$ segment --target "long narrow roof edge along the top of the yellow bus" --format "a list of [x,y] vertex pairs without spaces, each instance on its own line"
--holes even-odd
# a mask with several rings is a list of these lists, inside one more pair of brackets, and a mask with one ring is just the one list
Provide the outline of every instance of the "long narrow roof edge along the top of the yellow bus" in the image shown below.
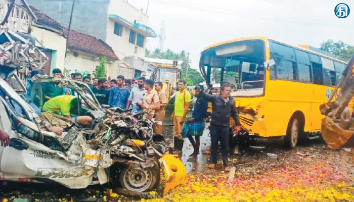
[[264,42],[267,42],[268,40],[277,41],[279,43],[283,43],[283,44],[288,45],[288,46],[296,47],[298,49],[302,49],[303,51],[306,51],[306,52],[309,52],[309,53],[313,53],[313,54],[317,54],[317,55],[320,55],[320,56],[325,57],[325,58],[330,57],[330,58],[332,58],[334,60],[337,60],[337,61],[340,61],[342,63],[348,63],[348,61],[344,61],[343,59],[340,59],[338,57],[333,57],[333,56],[330,55],[330,53],[325,54],[324,53],[325,51],[322,51],[322,50],[320,52],[320,51],[318,51],[319,50],[318,48],[313,48],[312,46],[309,46],[309,45],[290,45],[288,43],[285,43],[285,42],[282,42],[282,41],[279,41],[279,40],[275,40],[275,39],[272,39],[272,38],[268,38],[268,37],[265,37],[265,36],[241,37],[241,38],[235,38],[235,39],[232,39],[232,40],[227,40],[227,41],[215,43],[213,45],[210,45],[210,46],[204,48],[202,52],[205,52],[205,51],[207,51],[210,48],[213,48],[213,47],[216,47],[216,46],[220,46],[220,45],[225,45],[225,44],[228,44],[228,43],[234,43],[234,42],[238,42],[238,41],[247,41],[247,40],[257,40],[257,39],[258,40],[263,40]]

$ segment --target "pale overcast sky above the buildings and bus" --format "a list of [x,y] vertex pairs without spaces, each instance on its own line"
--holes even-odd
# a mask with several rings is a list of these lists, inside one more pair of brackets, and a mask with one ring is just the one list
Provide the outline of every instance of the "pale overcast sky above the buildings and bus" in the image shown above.
[[[128,0],[146,11],[148,0]],[[346,3],[345,19],[334,7]],[[150,0],[149,26],[160,32],[165,21],[164,50],[183,49],[198,68],[200,52],[213,43],[247,36],[267,36],[293,45],[319,47],[326,39],[354,45],[354,0]],[[149,38],[148,49],[158,47]]]

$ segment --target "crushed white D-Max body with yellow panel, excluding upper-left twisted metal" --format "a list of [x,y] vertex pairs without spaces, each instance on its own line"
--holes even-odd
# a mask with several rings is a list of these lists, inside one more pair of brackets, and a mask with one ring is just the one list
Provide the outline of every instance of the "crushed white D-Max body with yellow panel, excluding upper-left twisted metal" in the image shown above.
[[[45,75],[32,78],[31,100],[38,107],[42,106],[41,99],[38,99],[42,92],[38,86],[46,82],[60,83],[76,91],[87,107],[79,115],[91,116],[93,124],[91,128],[81,128],[65,122],[67,127],[61,136],[44,130],[43,122],[46,120],[40,120],[34,110],[1,79],[2,90],[21,106],[25,116],[13,112],[9,102],[2,98],[6,110],[0,111],[10,112],[9,125],[16,127],[7,128],[7,131],[12,131],[9,133],[12,146],[0,147],[0,179],[50,180],[69,188],[111,182],[113,186],[130,192],[144,192],[152,190],[160,182],[162,171],[166,180],[164,193],[188,182],[182,162],[164,154],[164,146],[152,141],[155,121],[149,118],[149,114],[105,111],[95,96],[91,98],[83,91],[93,95],[86,84]],[[2,121],[4,116],[2,114]],[[65,120],[58,115],[55,117],[56,120]]]

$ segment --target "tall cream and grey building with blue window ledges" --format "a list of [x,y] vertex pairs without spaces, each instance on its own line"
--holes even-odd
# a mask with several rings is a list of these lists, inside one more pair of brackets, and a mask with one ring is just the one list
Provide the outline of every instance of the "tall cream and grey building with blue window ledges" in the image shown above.
[[[72,1],[27,2],[46,11],[47,15],[62,26],[68,27]],[[120,61],[116,71],[109,76],[121,74],[132,78],[147,76],[148,69],[144,61],[146,42],[149,37],[157,37],[157,33],[148,24],[149,17],[146,13],[126,0],[83,0],[75,4],[71,28],[102,39],[113,49]]]

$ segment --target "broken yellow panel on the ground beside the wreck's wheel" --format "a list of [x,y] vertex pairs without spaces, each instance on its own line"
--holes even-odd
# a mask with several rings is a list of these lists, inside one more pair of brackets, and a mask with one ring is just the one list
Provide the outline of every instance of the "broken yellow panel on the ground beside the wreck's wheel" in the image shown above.
[[163,194],[169,190],[188,183],[189,176],[182,161],[177,158],[178,155],[165,154],[160,158],[163,175],[166,180]]

